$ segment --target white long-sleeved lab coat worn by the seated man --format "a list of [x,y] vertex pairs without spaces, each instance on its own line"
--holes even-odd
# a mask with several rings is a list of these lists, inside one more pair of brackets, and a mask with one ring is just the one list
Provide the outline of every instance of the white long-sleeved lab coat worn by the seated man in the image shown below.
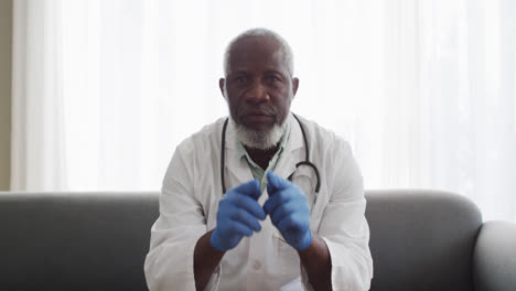
[[[160,216],[151,228],[144,272],[153,290],[195,290],[193,251],[197,239],[216,226],[221,184],[221,133],[225,118],[204,127],[175,150],[160,195]],[[315,198],[315,173],[310,166],[295,169],[304,161],[301,129],[290,115],[291,133],[275,173],[287,179],[293,173],[311,206],[310,228],[326,242],[332,260],[333,290],[368,290],[373,261],[369,229],[364,216],[363,179],[350,146],[313,121],[301,118],[308,137],[310,160],[321,175]],[[251,171],[239,159],[232,122],[226,132],[226,188],[252,180]],[[267,191],[259,198],[267,200]],[[311,289],[297,251],[278,238],[269,216],[262,229],[227,251],[213,273],[206,290],[279,290],[301,277]],[[289,284],[292,285],[292,284]],[[301,288],[301,287],[300,287]]]

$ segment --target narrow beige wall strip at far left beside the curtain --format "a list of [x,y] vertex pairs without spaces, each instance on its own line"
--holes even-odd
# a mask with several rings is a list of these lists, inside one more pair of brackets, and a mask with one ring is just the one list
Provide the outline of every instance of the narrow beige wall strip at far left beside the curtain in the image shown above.
[[11,176],[12,0],[0,0],[0,191]]

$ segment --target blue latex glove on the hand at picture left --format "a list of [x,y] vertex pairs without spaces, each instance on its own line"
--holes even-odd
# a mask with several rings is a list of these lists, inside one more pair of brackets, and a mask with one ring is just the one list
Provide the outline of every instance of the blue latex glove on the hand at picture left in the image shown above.
[[230,188],[218,203],[217,226],[209,237],[209,242],[219,251],[236,247],[244,236],[260,231],[258,219],[266,214],[258,204],[261,195],[258,180]]

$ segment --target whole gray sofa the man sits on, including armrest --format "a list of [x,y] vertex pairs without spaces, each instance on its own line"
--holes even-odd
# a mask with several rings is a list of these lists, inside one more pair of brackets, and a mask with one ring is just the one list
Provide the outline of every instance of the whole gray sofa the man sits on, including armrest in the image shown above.
[[[147,290],[159,193],[0,193],[0,290]],[[469,200],[369,191],[372,290],[516,290],[516,226]]]

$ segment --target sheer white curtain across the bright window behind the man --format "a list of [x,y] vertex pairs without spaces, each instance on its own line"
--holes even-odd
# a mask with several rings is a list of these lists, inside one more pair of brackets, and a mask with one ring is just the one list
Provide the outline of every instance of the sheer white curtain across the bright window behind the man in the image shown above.
[[516,222],[512,0],[17,0],[12,190],[159,190],[227,115],[227,42],[282,34],[292,110],[346,138],[367,188],[440,188]]

